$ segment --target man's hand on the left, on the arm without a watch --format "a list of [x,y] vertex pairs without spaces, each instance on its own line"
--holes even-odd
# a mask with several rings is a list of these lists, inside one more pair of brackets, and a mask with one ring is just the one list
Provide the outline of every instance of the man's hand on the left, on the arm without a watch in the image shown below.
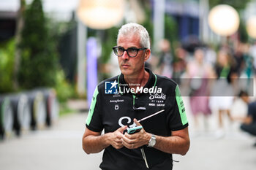
[[125,129],[127,129],[127,125],[124,125],[121,128],[118,128],[116,131],[108,134],[108,142],[112,145],[112,147],[116,148],[117,150],[124,147],[121,139],[124,136],[123,133]]

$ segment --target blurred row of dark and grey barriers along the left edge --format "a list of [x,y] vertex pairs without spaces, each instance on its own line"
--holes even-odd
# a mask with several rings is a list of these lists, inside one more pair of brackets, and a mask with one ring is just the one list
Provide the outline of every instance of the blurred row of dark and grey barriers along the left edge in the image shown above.
[[0,139],[50,127],[58,118],[59,102],[52,88],[0,95]]

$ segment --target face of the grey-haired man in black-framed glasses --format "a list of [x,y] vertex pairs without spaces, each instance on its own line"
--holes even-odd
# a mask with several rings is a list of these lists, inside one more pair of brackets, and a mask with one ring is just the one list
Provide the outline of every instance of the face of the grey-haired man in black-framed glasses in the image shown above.
[[[140,36],[137,36],[136,34],[120,36],[117,46],[123,47],[125,50],[130,47],[141,48]],[[144,62],[149,58],[149,55],[149,49],[139,50],[135,57],[130,58],[127,51],[124,51],[124,54],[121,57],[118,57],[119,68],[122,74],[124,74],[124,77],[138,77],[141,73],[143,73]]]

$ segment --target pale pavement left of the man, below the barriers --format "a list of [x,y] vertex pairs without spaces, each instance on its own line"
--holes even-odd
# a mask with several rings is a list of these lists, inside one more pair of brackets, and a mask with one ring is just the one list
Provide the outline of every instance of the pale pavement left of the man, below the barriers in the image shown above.
[[81,139],[86,114],[66,115],[53,128],[0,142],[1,170],[94,170],[101,154],[86,155]]

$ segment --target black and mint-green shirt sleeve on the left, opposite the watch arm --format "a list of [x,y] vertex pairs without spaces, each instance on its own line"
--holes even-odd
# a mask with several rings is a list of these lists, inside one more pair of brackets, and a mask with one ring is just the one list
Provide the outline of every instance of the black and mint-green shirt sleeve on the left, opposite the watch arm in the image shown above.
[[94,96],[91,98],[91,106],[86,119],[86,127],[91,131],[100,132],[103,129],[100,110],[100,94],[98,86],[94,90]]

